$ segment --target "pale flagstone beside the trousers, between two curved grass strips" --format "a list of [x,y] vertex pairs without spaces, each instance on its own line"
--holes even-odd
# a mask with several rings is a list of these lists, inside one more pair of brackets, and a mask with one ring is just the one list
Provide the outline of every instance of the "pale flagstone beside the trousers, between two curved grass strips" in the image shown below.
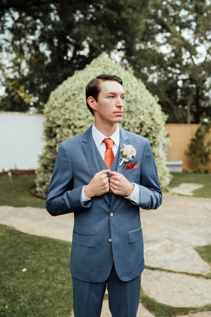
[[211,280],[144,269],[141,285],[147,295],[175,307],[199,307],[211,303]]

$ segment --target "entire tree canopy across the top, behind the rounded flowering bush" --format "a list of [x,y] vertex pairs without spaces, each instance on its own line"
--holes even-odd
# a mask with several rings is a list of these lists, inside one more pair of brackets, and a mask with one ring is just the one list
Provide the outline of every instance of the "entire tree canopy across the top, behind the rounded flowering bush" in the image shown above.
[[211,115],[210,0],[3,0],[0,19],[0,110],[42,112],[105,52],[158,95],[168,122]]

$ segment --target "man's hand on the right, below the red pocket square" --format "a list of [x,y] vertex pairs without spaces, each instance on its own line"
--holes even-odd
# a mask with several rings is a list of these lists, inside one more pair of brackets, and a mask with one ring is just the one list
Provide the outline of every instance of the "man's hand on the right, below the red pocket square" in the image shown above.
[[112,175],[110,178],[110,190],[116,195],[130,196],[135,185],[131,184],[121,173],[109,171],[109,174]]

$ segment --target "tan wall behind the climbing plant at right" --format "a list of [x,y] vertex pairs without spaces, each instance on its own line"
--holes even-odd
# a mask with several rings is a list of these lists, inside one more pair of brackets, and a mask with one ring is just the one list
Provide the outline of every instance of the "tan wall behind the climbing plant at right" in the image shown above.
[[[169,133],[169,152],[168,160],[182,160],[183,169],[195,168],[195,165],[190,159],[184,154],[190,143],[190,137],[192,137],[197,128],[198,124],[182,124],[182,123],[166,123],[165,131]],[[206,139],[211,138],[211,131],[209,136],[206,135]],[[211,168],[211,164],[208,165]]]

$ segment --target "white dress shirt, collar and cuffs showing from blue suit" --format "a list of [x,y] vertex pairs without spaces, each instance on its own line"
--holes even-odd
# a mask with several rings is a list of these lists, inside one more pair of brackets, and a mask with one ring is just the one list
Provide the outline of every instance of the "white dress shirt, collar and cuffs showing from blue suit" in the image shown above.
[[[119,129],[118,124],[117,124],[117,128],[116,128],[115,132],[110,137],[107,137],[104,134],[102,134],[100,131],[98,131],[95,127],[95,124],[93,124],[92,136],[93,136],[93,139],[95,141],[96,147],[97,147],[98,151],[100,152],[100,155],[102,156],[103,161],[105,161],[106,146],[105,146],[105,143],[103,143],[102,141],[105,138],[112,139],[114,141],[112,150],[114,152],[114,157],[115,157],[116,152],[117,152],[118,147],[119,147],[119,142],[120,142],[120,129]],[[131,184],[135,185],[131,195],[127,196],[127,197],[124,196],[124,197],[129,199],[129,200],[133,200],[136,204],[138,204],[140,202],[139,186],[135,183],[131,183]],[[91,199],[91,198],[87,198],[86,195],[84,194],[84,187],[82,189],[82,194],[81,194],[81,203],[82,204],[85,204],[87,201],[89,201]]]

